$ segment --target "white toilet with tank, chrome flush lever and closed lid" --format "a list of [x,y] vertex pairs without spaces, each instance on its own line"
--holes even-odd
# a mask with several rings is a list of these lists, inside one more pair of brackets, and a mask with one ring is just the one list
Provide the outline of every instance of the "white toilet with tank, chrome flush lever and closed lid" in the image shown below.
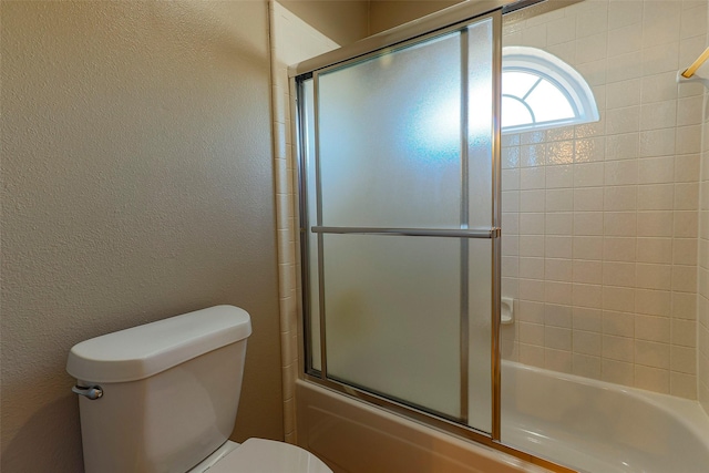
[[249,315],[217,306],[75,345],[86,473],[332,473],[311,453],[234,430]]

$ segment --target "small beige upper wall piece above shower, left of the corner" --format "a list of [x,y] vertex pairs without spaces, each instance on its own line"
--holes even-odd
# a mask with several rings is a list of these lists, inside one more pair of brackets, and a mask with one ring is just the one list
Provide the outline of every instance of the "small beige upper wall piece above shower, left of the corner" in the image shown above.
[[281,0],[302,21],[338,44],[368,35],[369,0]]

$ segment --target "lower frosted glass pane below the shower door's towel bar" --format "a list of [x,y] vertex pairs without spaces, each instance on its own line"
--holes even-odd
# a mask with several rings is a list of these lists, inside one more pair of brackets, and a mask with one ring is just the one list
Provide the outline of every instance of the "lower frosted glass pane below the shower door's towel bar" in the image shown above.
[[328,376],[460,417],[460,241],[325,235]]

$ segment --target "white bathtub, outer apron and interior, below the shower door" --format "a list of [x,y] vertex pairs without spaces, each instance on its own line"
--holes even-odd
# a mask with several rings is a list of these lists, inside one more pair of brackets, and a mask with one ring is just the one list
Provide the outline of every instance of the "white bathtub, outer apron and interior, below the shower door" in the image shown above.
[[[592,473],[708,473],[697,402],[503,362],[502,438]],[[297,439],[335,473],[538,473],[497,450],[298,380]]]

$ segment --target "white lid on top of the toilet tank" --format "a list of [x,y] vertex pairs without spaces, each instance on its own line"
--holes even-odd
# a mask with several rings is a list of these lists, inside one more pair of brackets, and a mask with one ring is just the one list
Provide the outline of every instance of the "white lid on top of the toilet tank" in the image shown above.
[[88,383],[136,381],[249,335],[246,310],[215,306],[76,343],[66,371]]

